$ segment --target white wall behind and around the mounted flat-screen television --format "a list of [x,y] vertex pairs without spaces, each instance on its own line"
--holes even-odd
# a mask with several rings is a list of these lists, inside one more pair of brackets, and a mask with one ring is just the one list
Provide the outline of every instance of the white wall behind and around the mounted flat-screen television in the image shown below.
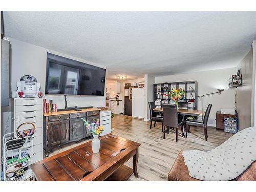
[[[9,39],[11,44],[11,91],[16,91],[16,81],[18,81],[20,77],[33,75],[37,79],[37,82],[41,83],[41,92],[45,93],[47,52],[105,69],[104,66],[97,65],[87,60],[48,50],[13,38]],[[65,107],[64,96],[44,95],[44,98],[52,99],[54,103],[57,103],[58,109]],[[105,106],[105,96],[67,96],[67,100],[68,106]],[[11,108],[5,109],[5,112],[2,114],[3,122],[6,122],[9,115],[8,111],[11,111],[10,109]],[[8,124],[10,126],[10,123]]]

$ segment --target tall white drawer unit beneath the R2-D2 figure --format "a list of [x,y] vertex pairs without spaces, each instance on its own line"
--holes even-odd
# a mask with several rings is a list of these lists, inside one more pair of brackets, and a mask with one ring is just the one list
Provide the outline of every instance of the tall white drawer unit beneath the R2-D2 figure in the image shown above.
[[35,124],[33,134],[33,163],[42,160],[42,98],[13,98],[12,99],[12,127],[16,132],[17,127],[25,122]]

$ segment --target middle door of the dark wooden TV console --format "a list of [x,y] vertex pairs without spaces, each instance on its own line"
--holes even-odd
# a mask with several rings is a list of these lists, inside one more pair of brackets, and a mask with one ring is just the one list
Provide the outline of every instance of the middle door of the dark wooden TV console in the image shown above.
[[85,137],[87,134],[86,126],[81,118],[70,119],[70,140]]

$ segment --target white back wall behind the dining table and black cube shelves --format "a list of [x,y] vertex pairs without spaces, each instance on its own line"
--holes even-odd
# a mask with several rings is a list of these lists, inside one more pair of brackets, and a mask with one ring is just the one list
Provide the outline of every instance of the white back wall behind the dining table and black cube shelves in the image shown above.
[[[216,111],[220,111],[222,108],[234,109],[236,91],[228,89],[228,78],[233,74],[236,74],[236,68],[167,75],[156,77],[155,81],[162,83],[196,80],[198,82],[198,95],[217,92],[218,88],[224,89],[220,95],[214,94],[203,98],[203,110],[206,110],[209,103],[212,104],[208,125],[216,126]],[[201,109],[201,99],[198,99],[198,109]]]

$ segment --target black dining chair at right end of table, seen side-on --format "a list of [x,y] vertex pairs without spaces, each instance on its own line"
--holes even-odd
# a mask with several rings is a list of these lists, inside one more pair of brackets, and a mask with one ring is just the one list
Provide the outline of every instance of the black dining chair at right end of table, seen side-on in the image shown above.
[[209,104],[207,106],[205,115],[204,115],[204,119],[203,120],[197,120],[197,119],[188,119],[186,120],[186,126],[188,127],[188,133],[190,133],[190,126],[199,126],[199,127],[203,127],[204,128],[204,137],[205,137],[205,141],[207,141],[208,138],[208,134],[207,134],[207,122],[208,122],[208,118],[210,115],[210,109],[211,109],[212,104]]

